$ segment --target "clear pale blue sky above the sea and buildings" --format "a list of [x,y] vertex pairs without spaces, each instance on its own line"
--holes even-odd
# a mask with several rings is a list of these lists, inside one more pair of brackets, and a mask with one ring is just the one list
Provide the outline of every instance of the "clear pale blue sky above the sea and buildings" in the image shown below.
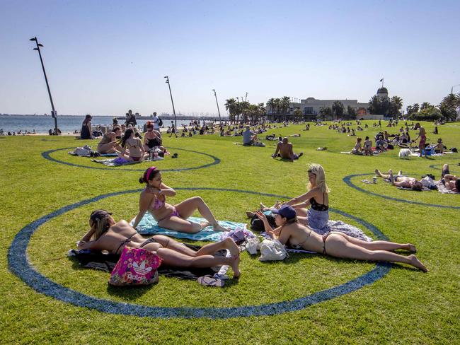
[[[227,98],[438,104],[460,84],[460,1],[0,0],[0,112],[221,112]],[[460,86],[456,92],[460,92]]]

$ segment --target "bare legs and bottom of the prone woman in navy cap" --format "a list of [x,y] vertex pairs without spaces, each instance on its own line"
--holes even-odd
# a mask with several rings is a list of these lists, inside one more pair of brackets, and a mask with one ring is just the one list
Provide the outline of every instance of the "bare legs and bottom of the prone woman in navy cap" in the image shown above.
[[332,234],[326,240],[326,252],[333,257],[357,259],[363,261],[403,262],[413,267],[427,271],[426,267],[415,257],[404,257],[386,250],[368,250],[347,241],[343,236]]

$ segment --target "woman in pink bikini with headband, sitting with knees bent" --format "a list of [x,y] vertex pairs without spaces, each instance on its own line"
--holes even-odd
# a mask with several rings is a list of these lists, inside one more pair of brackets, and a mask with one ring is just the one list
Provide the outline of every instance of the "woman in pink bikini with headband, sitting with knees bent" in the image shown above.
[[[161,180],[161,172],[155,167],[145,170],[139,178],[140,183],[145,183],[145,188],[139,197],[139,214],[134,220],[134,228],[142,220],[144,214],[149,211],[158,221],[161,228],[180,231],[181,233],[198,233],[203,228],[211,225],[216,231],[228,231],[219,226],[216,218],[201,197],[192,197],[176,205],[166,203],[166,197],[174,197],[176,191],[168,187]],[[187,218],[198,210],[207,223],[193,223]]]

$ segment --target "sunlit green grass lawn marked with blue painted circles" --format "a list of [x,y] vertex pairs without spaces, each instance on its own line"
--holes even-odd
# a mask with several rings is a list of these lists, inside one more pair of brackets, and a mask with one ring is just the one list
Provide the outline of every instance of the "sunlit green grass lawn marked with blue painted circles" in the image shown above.
[[[358,136],[374,136],[378,129],[370,126]],[[424,124],[431,133],[432,124]],[[171,187],[214,187],[294,197],[306,190],[308,163],[320,163],[326,170],[331,189],[330,206],[361,218],[376,226],[390,240],[412,242],[418,257],[430,271],[423,274],[403,264],[396,264],[383,279],[338,298],[326,300],[295,312],[273,316],[234,317],[229,319],[134,317],[114,315],[76,307],[45,296],[26,285],[8,269],[8,248],[24,226],[53,211],[84,199],[110,192],[139,189],[138,178],[149,163],[106,170],[89,158],[73,157],[69,150],[50,153],[57,160],[79,166],[59,164],[42,157],[42,152],[97,142],[78,141],[74,137],[15,136],[0,138],[2,207],[0,208],[0,343],[1,344],[299,344],[299,343],[403,343],[459,344],[460,339],[460,245],[459,209],[437,208],[384,199],[352,189],[343,177],[372,174],[375,168],[402,169],[410,176],[440,170],[430,168],[450,163],[460,173],[460,155],[399,160],[398,150],[380,156],[350,156],[356,137],[338,134],[327,127],[303,126],[275,129],[275,134],[300,133],[292,137],[294,151],[304,157],[291,163],[274,160],[270,155],[275,143],[266,147],[234,145],[241,137],[194,136],[173,139],[165,144],[174,147],[178,159],[155,162],[160,169],[195,168],[213,163],[207,153],[220,159],[217,165],[198,170],[163,173]],[[428,134],[428,142],[442,137],[450,147],[460,148],[460,124],[439,126],[439,135]],[[385,129],[385,128],[384,128]],[[389,129],[395,133],[397,129]],[[415,138],[415,131],[410,131]],[[263,135],[265,137],[265,135]],[[327,151],[316,151],[327,146]],[[188,151],[186,151],[188,150]],[[197,151],[197,152],[191,152]],[[363,178],[351,181],[369,192],[425,204],[460,206],[460,196],[439,192],[408,192],[396,189],[379,179],[365,185]],[[254,209],[260,201],[271,204],[276,198],[256,194],[217,190],[178,190],[172,204],[200,195],[219,219],[247,222],[244,211]],[[291,255],[284,262],[259,262],[243,252],[242,276],[224,288],[205,288],[195,281],[160,277],[160,282],[146,288],[113,288],[109,274],[80,269],[67,258],[88,228],[93,209],[113,212],[115,219],[130,220],[137,214],[138,193],[122,194],[86,204],[40,226],[30,239],[28,259],[40,274],[62,286],[94,298],[121,303],[160,307],[239,307],[280,303],[332,288],[374,269],[375,264],[340,260],[322,255]],[[331,212],[330,218],[360,223]],[[365,230],[368,235],[372,235]],[[374,238],[375,236],[372,235]],[[455,340],[456,339],[456,340]]]

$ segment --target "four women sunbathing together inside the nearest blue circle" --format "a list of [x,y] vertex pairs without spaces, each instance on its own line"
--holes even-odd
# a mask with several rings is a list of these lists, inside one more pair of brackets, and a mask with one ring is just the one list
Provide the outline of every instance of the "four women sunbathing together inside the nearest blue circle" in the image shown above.
[[[255,212],[263,221],[268,235],[275,240],[280,240],[283,245],[291,245],[323,255],[367,261],[403,262],[427,271],[415,255],[406,257],[392,252],[393,250],[415,252],[415,246],[410,243],[399,244],[381,240],[366,242],[336,232],[318,235],[314,229],[323,228],[328,221],[329,189],[321,165],[312,164],[308,175],[308,192],[284,204],[275,204],[270,209],[272,214],[275,214],[275,229],[270,226],[263,212],[260,210]],[[108,211],[93,211],[89,219],[90,230],[79,241],[80,249],[107,250],[113,254],[120,254],[123,247],[143,247],[145,250],[156,252],[166,265],[213,267],[225,264],[233,269],[234,278],[240,276],[239,250],[231,238],[205,245],[195,251],[163,235],[154,235],[149,239],[139,235],[135,227],[146,212],[154,216],[160,227],[184,233],[197,233],[208,225],[213,226],[217,231],[226,230],[219,226],[212,211],[201,197],[192,197],[176,205],[168,204],[166,197],[175,196],[176,191],[163,182],[161,172],[155,167],[148,168],[139,178],[139,182],[145,187],[139,197],[139,213],[134,219],[133,226],[124,220],[115,221]],[[188,221],[188,217],[195,211],[198,211],[207,222]],[[229,250],[231,256],[215,255],[222,249]]]

